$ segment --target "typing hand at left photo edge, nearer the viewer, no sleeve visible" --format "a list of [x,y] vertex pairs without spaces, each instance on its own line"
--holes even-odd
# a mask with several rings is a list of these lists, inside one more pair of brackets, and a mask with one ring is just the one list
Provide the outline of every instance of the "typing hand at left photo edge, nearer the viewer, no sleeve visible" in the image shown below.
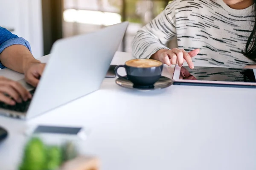
[[20,83],[0,76],[0,102],[15,105],[31,99],[32,95]]

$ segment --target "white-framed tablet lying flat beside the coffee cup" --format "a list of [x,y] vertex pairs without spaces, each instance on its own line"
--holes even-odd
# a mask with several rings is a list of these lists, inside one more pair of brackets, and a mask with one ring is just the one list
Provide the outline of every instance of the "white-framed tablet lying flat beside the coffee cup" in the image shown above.
[[256,69],[175,66],[174,85],[256,88]]

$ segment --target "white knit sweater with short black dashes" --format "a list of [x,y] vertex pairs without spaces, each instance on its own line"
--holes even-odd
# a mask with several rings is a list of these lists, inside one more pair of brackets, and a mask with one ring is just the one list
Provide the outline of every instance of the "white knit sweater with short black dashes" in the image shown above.
[[133,42],[136,58],[149,58],[177,36],[178,48],[201,48],[193,62],[244,67],[256,64],[241,54],[254,26],[254,6],[236,10],[223,0],[174,0],[141,28]]

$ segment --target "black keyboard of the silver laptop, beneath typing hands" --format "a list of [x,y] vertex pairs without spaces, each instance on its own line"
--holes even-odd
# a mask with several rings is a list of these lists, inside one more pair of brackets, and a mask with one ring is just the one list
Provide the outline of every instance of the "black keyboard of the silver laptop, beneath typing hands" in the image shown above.
[[[30,94],[33,96],[35,93],[35,89],[33,89],[32,91],[29,91]],[[3,109],[7,109],[7,110],[11,110],[11,111],[17,111],[17,112],[26,112],[29,108],[31,99],[28,99],[26,102],[22,102],[22,103],[16,103],[16,105],[6,105],[3,102],[0,102],[0,108]]]

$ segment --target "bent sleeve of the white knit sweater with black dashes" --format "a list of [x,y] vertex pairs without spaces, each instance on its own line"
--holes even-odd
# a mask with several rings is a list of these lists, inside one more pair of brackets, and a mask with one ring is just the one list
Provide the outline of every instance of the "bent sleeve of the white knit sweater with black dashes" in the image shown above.
[[169,49],[167,42],[176,36],[175,8],[178,0],[172,1],[150,23],[140,28],[132,42],[132,54],[136,58],[150,58],[160,49]]

